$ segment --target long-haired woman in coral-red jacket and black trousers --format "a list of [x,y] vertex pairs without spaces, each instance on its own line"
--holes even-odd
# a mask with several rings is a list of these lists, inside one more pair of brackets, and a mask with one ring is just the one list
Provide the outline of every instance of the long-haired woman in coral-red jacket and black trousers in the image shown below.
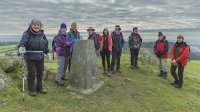
[[110,54],[112,52],[112,38],[109,35],[108,29],[103,30],[103,35],[99,38],[100,41],[100,54],[102,58],[103,74],[106,74],[105,59],[107,61],[108,75],[110,76]]

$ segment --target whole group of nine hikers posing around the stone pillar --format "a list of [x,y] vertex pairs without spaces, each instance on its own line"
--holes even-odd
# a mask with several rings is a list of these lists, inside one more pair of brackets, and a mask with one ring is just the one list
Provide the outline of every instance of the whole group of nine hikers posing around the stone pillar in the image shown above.
[[[115,26],[115,30],[109,33],[108,28],[103,29],[102,34],[95,32],[95,29],[89,27],[87,29],[88,39],[94,42],[96,51],[100,51],[103,74],[111,76],[115,73],[121,73],[120,59],[122,49],[125,41],[119,25]],[[158,40],[155,43],[154,51],[158,58],[158,66],[160,74],[158,76],[167,78],[167,58],[169,45],[161,32],[158,34]],[[58,34],[54,37],[52,42],[52,49],[57,54],[58,68],[55,78],[55,83],[59,86],[64,86],[63,80],[67,80],[66,71],[70,71],[71,59],[73,56],[73,46],[77,40],[80,39],[80,32],[77,30],[77,24],[72,23],[70,31],[67,32],[67,25],[62,23],[60,25]],[[131,67],[133,69],[139,68],[138,54],[142,45],[142,38],[138,33],[138,28],[134,27],[131,35],[128,38],[130,54],[131,54]],[[37,93],[46,94],[46,90],[42,84],[43,70],[44,70],[44,54],[47,55],[51,61],[51,53],[48,48],[48,40],[42,30],[42,22],[38,19],[33,19],[28,29],[24,32],[22,39],[19,43],[19,53],[24,55],[27,65],[27,82],[29,94],[36,96]],[[26,52],[24,52],[24,50]],[[42,51],[42,52],[36,52]],[[174,77],[172,83],[175,87],[180,88],[183,84],[183,71],[187,64],[189,55],[189,46],[184,42],[183,36],[177,37],[177,42],[172,47],[171,51],[171,74]],[[112,59],[110,59],[112,55]],[[107,67],[106,67],[107,63]],[[116,70],[115,70],[116,67]],[[176,69],[178,68],[178,75]],[[35,84],[35,78],[37,83]]]

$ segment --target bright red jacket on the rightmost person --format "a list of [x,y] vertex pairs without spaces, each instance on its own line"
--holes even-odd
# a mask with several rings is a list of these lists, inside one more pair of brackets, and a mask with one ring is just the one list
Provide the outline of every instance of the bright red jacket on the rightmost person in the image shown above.
[[[171,59],[174,60],[175,59],[175,48],[177,47],[177,44],[175,43],[172,46],[172,51],[171,51]],[[178,58],[176,58],[176,62],[181,62],[182,66],[186,66],[187,65],[187,61],[189,58],[189,52],[190,52],[190,47],[184,42],[183,45],[181,45],[180,48],[180,56]]]

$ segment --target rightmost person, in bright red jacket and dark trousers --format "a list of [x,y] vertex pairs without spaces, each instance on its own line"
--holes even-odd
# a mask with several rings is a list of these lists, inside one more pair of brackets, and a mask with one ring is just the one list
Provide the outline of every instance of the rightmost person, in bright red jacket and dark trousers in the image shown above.
[[[179,35],[177,42],[172,46],[171,51],[171,74],[174,82],[171,83],[176,88],[181,88],[183,85],[184,67],[187,65],[189,58],[190,47],[184,42],[184,37]],[[178,68],[178,75],[176,69]]]

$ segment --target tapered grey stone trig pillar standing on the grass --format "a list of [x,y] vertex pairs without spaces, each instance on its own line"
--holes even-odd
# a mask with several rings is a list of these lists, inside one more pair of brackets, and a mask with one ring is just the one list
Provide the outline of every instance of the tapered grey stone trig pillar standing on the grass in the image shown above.
[[79,40],[74,45],[71,77],[68,88],[83,94],[96,91],[101,85],[94,43],[91,40]]

